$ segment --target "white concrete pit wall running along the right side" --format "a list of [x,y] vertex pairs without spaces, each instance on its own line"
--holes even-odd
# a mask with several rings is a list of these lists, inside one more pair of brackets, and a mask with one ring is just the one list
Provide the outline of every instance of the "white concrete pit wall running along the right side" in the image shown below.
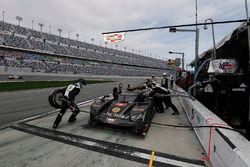
[[[181,88],[178,91],[185,92]],[[231,128],[197,100],[179,97],[192,126],[223,126]],[[250,142],[238,132],[222,128],[194,129],[214,167],[250,167]]]

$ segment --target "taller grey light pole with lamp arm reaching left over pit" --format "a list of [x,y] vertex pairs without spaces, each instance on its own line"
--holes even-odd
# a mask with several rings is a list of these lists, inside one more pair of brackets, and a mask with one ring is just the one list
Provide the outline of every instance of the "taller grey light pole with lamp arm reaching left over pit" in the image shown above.
[[[196,29],[177,29],[175,27],[171,27],[169,29],[169,32],[195,32],[196,36],[195,36],[195,69],[194,69],[194,75],[196,75],[197,73],[197,69],[198,69],[198,48],[199,48],[199,28]],[[184,69],[184,68],[183,68]]]

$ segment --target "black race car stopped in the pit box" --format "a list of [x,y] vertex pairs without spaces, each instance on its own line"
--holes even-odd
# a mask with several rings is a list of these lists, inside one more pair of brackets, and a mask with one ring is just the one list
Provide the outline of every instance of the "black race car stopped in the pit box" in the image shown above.
[[113,127],[126,128],[136,134],[146,135],[156,107],[147,90],[119,94],[117,100],[102,98],[90,107],[90,119]]

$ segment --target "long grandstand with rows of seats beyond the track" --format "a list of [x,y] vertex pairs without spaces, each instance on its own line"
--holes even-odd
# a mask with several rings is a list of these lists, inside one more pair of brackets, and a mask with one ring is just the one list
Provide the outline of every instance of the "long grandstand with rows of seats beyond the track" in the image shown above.
[[31,72],[159,76],[166,62],[0,21],[0,66]]

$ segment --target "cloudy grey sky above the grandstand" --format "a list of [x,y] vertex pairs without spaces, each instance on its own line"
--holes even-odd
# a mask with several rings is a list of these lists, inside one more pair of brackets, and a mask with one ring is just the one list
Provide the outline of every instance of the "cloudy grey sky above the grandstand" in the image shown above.
[[[249,8],[250,2],[248,2]],[[4,11],[4,15],[3,15]],[[63,37],[105,46],[102,33],[127,29],[172,26],[195,23],[195,0],[1,0],[1,20]],[[215,21],[246,18],[245,0],[197,0],[198,23],[211,18]],[[215,41],[220,41],[240,23],[214,25]],[[195,29],[195,27],[185,27]],[[199,54],[213,46],[211,26],[204,30],[199,26]],[[70,33],[69,33],[70,32]],[[94,39],[92,41],[91,39]],[[157,59],[181,58],[169,51],[184,52],[185,64],[195,58],[195,33],[170,33],[169,29],[129,32],[125,40],[117,43],[119,50],[143,54]],[[115,48],[115,44],[108,44]]]

